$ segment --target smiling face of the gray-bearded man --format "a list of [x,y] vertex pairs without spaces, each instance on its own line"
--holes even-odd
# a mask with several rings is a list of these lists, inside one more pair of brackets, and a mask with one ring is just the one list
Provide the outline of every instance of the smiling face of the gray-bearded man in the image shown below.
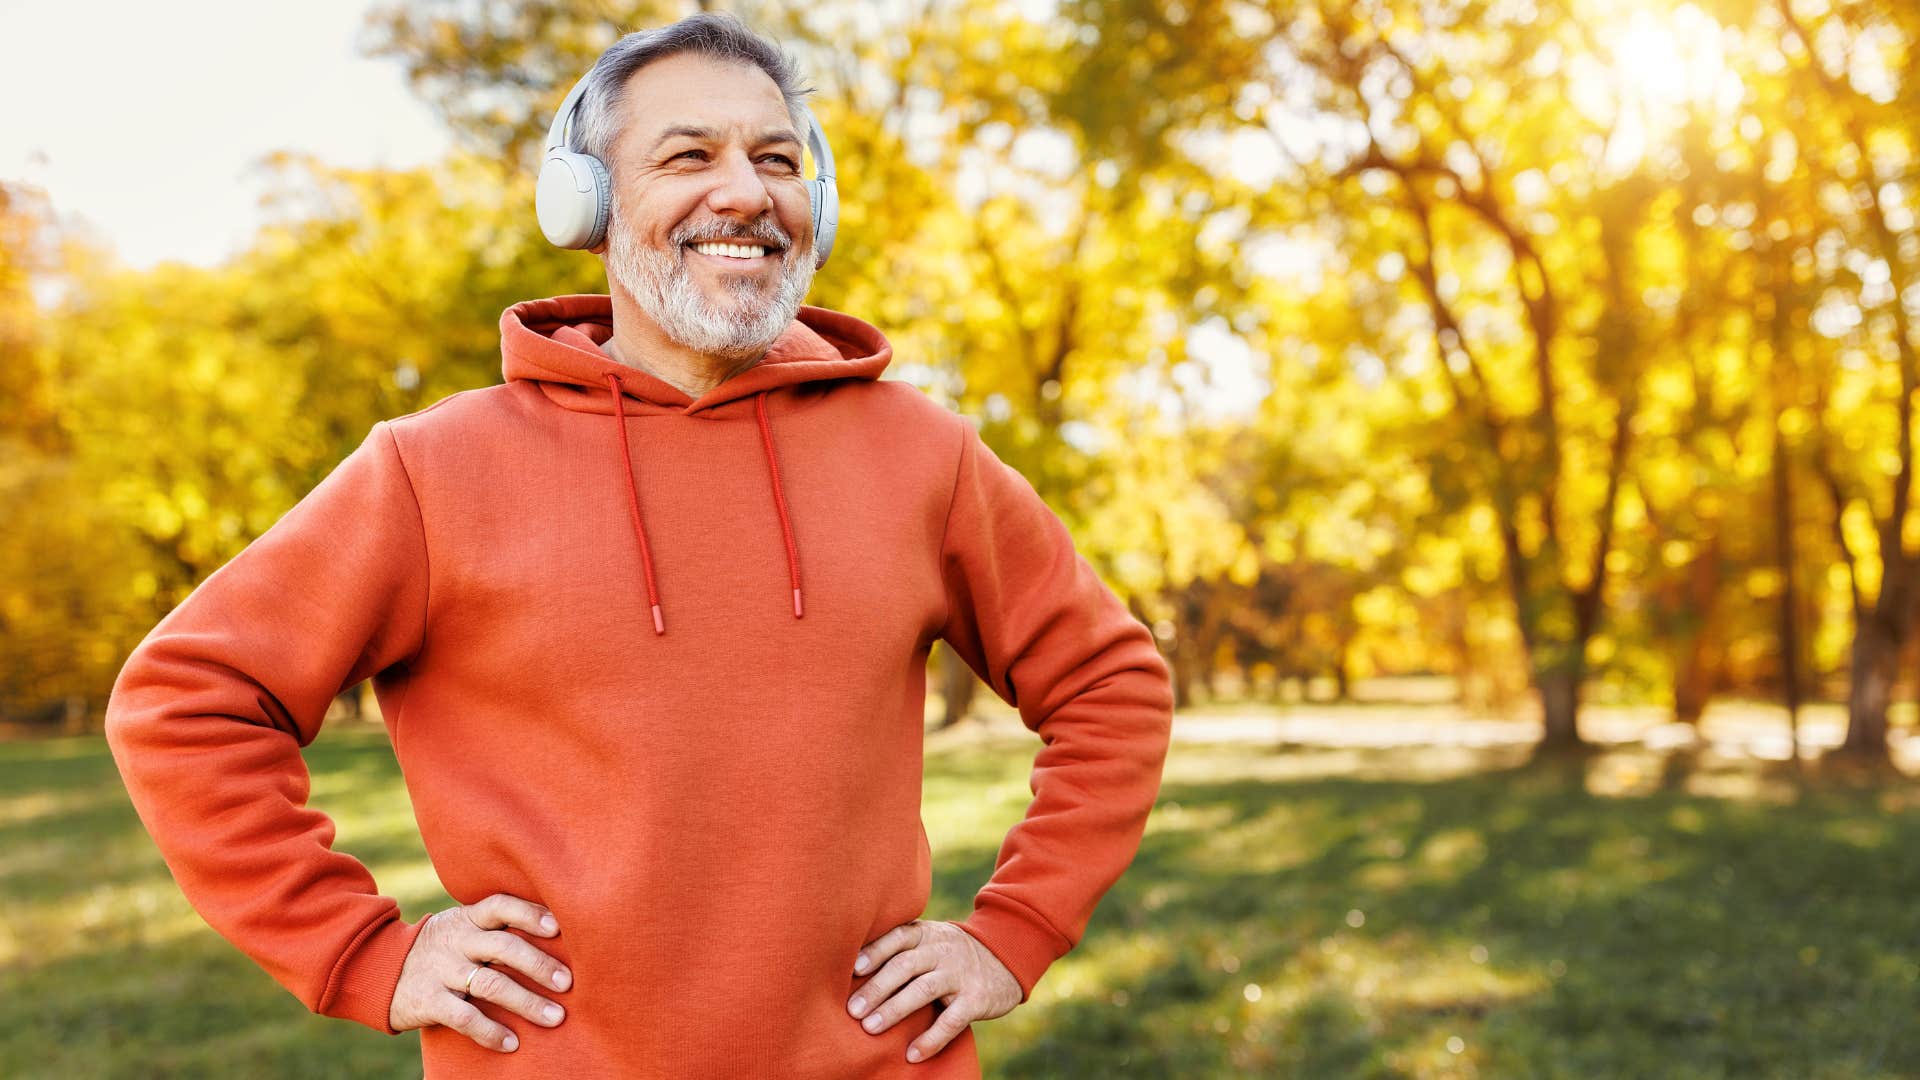
[[668,338],[758,357],[814,277],[801,133],[780,86],[751,63],[678,54],[634,73],[626,110],[609,277]]

